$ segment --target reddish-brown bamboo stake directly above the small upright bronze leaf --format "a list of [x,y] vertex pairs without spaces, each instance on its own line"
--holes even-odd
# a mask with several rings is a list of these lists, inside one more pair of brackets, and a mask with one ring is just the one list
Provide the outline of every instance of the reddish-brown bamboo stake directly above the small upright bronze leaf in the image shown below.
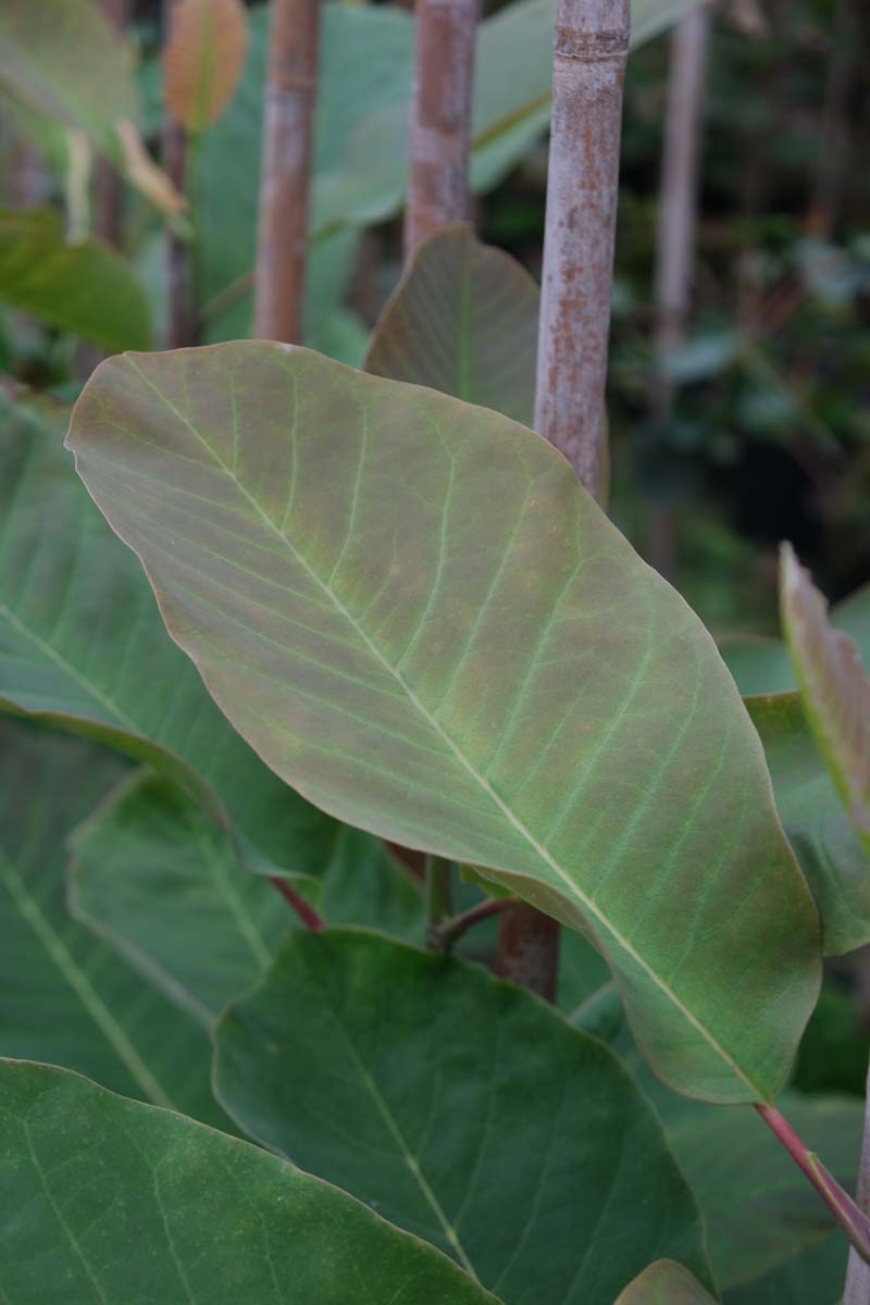
[[406,260],[438,227],[468,219],[477,0],[416,0]]

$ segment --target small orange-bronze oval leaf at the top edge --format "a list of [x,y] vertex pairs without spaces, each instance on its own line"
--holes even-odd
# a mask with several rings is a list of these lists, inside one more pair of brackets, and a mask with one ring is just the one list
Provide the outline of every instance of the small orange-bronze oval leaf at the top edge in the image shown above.
[[241,0],[180,0],[163,51],[166,102],[189,132],[215,123],[230,103],[248,52]]

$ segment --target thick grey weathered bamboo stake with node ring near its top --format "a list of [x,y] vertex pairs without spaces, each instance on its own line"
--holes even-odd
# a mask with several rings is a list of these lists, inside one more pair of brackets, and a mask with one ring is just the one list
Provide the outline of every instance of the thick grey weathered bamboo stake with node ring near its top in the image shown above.
[[629,0],[560,0],[535,428],[596,493],[604,470]]

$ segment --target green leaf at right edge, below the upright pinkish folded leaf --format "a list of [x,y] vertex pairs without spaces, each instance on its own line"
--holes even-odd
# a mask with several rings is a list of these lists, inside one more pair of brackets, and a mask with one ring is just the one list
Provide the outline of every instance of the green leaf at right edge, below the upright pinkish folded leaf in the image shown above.
[[828,955],[870,941],[870,859],[813,737],[801,696],[746,699],[773,779],[776,805],[822,919]]

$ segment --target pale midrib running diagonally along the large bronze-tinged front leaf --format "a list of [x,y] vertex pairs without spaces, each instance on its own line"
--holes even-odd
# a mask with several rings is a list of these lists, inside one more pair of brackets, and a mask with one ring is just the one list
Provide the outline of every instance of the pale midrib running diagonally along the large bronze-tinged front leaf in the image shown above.
[[[279,346],[280,347],[280,346]],[[292,348],[292,346],[283,347],[286,352]],[[751,1081],[743,1069],[734,1061],[729,1052],[720,1044],[717,1037],[711,1032],[707,1026],[698,1019],[698,1017],[691,1011],[685,1002],[680,1000],[677,993],[661,979],[656,970],[650,964],[650,962],[640,955],[640,953],[634,947],[631,941],[625,937],[617,928],[610,923],[610,920],[604,915],[601,908],[597,906],[592,898],[587,897],[570,877],[565,867],[562,867],[556,857],[544,847],[544,844],[535,838],[531,830],[524,825],[524,822],[517,816],[513,808],[498,796],[485,775],[483,775],[477,767],[473,765],[470,757],[462,750],[459,744],[447,733],[443,726],[433,716],[425,703],[417,697],[412,686],[404,679],[402,672],[393,666],[393,663],[383,656],[378,646],[373,642],[370,636],[363,629],[363,626],[356,621],[352,612],[344,606],[339,595],[330,589],[330,586],[321,579],[317,572],[313,569],[308,559],[299,552],[293,545],[292,540],[282,534],[282,531],[275,526],[267,513],[263,510],[262,505],[253,497],[248,488],[239,480],[237,475],[227,466],[227,463],[220,458],[217,450],[207,442],[207,440],[201,435],[190,419],[181,412],[175,403],[154,384],[154,381],[137,365],[132,355],[124,354],[124,360],[129,364],[133,372],[143,381],[147,388],[157,395],[157,398],[163,403],[163,406],[172,412],[177,422],[180,422],[190,435],[198,441],[198,444],[206,450],[209,457],[219,466],[224,475],[231,480],[231,483],[237,488],[239,493],[250,504],[256,514],[262,521],[267,531],[270,531],[280,543],[290,551],[296,565],[301,566],[307,576],[313,581],[313,583],[326,595],[331,602],[333,607],[344,617],[351,629],[355,632],[357,638],[363,641],[372,656],[383,667],[383,669],[393,676],[397,684],[403,690],[408,702],[420,713],[423,719],[428,726],[441,737],[446,744],[449,750],[453,753],[459,765],[471,775],[477,787],[489,797],[493,805],[501,812],[503,818],[510,823],[510,826],[520,835],[520,838],[532,848],[532,851],[539,856],[539,859],[557,876],[557,878],[565,885],[567,890],[569,899],[574,899],[580,904],[583,911],[591,916],[597,924],[600,924],[613,938],[613,941],[629,955],[638,967],[648,976],[652,984],[661,992],[661,994],[670,1001],[670,1004],[680,1011],[682,1018],[690,1024],[708,1047],[715,1052],[716,1056],[723,1061],[724,1065],[734,1074],[734,1077],[743,1083],[751,1092],[754,1099],[766,1100],[766,1095],[759,1090],[759,1087]],[[291,432],[293,435],[295,432]],[[498,869],[494,867],[493,869]]]

